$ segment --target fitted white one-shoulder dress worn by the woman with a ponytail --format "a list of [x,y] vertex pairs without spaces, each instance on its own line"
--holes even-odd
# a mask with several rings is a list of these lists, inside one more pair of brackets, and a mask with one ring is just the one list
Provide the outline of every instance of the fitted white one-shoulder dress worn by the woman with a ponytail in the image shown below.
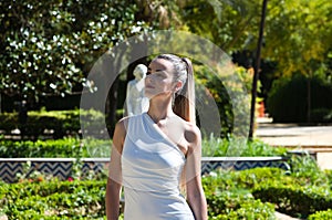
[[122,153],[125,220],[194,220],[180,195],[186,158],[147,113],[129,117]]

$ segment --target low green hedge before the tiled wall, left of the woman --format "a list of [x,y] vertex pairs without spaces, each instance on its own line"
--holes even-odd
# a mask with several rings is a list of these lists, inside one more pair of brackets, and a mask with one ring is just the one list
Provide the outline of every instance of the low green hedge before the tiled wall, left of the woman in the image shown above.
[[105,187],[95,180],[13,184],[0,202],[9,219],[103,219]]

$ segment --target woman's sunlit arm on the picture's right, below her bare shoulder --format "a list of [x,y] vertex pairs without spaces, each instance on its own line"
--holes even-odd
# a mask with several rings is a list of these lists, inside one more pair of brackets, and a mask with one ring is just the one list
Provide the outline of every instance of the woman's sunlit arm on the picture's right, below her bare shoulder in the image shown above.
[[207,220],[207,202],[201,186],[200,159],[201,137],[197,127],[187,134],[190,146],[187,151],[186,161],[186,191],[187,200],[196,220]]

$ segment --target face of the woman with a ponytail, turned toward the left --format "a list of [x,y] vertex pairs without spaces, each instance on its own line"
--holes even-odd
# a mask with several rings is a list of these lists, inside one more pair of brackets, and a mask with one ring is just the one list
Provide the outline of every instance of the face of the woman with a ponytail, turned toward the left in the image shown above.
[[148,98],[159,95],[172,95],[175,88],[174,66],[164,59],[151,62],[145,77],[145,95]]

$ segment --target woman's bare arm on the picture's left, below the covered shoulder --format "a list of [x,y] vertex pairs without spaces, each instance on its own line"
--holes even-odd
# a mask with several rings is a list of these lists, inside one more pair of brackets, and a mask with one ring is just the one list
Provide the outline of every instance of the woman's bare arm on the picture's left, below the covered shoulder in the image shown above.
[[108,179],[106,185],[106,216],[107,220],[117,220],[120,210],[120,193],[122,188],[121,155],[125,138],[125,121],[120,121],[114,130]]

